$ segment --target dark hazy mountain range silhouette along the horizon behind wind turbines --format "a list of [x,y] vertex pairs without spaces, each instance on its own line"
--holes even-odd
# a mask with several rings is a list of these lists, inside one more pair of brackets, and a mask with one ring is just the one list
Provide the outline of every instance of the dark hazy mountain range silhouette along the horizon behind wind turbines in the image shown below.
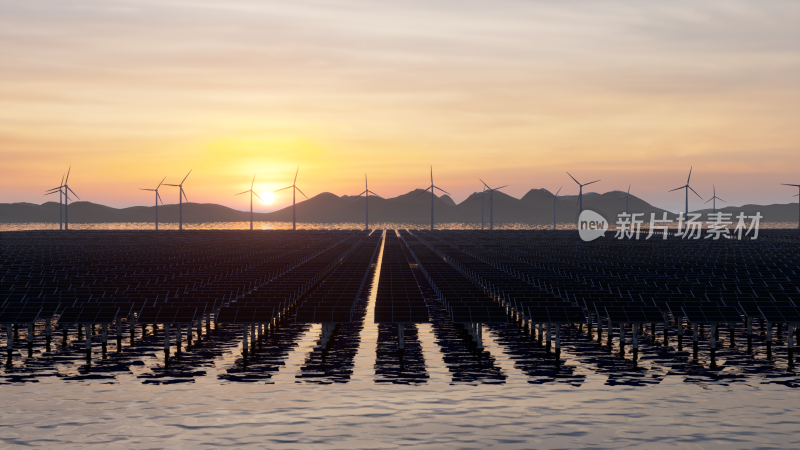
[[[394,198],[370,196],[370,222],[396,223],[430,223],[430,193],[414,190]],[[422,195],[419,195],[423,193]],[[470,195],[466,200],[456,204],[448,195],[434,198],[434,219],[436,223],[481,222],[480,193]],[[625,200],[620,197],[625,193],[611,191],[604,194],[584,193],[583,207],[595,211],[611,224],[616,223],[617,215],[625,211]],[[485,195],[484,221],[489,226],[489,195]],[[364,197],[338,196],[328,192],[316,195],[297,203],[297,221],[313,223],[341,223],[364,221]],[[33,203],[0,203],[0,223],[58,223],[58,203],[47,202],[41,205]],[[718,211],[739,212],[754,215],[757,211],[763,216],[763,222],[796,222],[797,203],[774,205],[743,205],[720,208]],[[107,223],[107,222],[152,222],[155,217],[154,206],[133,206],[129,208],[112,208],[91,202],[75,202],[69,205],[70,223]],[[660,219],[663,213],[675,219],[676,214],[657,208],[646,201],[631,195],[630,213],[644,213],[642,220],[649,222],[650,213]],[[711,209],[693,212],[707,213]],[[164,223],[178,221],[178,205],[159,206],[159,221]],[[292,207],[286,207],[270,213],[254,213],[255,221],[287,222],[292,220]],[[183,221],[199,222],[240,222],[249,221],[249,211],[239,211],[226,206],[210,203],[184,203]],[[578,196],[559,196],[556,207],[556,221],[559,223],[577,223]],[[735,219],[733,219],[735,221]],[[494,193],[494,223],[553,223],[553,198],[545,189],[531,189],[518,199],[502,192]]]

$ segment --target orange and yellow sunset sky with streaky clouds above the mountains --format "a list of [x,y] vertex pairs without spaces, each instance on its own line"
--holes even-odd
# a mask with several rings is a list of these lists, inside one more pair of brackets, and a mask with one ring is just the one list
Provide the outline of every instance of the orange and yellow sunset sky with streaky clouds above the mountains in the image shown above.
[[[800,184],[800,2],[0,0],[0,202]],[[177,190],[164,188],[167,203]],[[57,200],[57,198],[56,198]],[[270,211],[291,203],[290,191]],[[690,205],[699,207],[699,200]]]

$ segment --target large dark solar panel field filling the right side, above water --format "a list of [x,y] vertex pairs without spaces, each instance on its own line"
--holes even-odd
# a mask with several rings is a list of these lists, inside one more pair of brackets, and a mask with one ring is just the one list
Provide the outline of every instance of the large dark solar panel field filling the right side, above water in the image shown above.
[[[683,327],[686,308],[700,313],[692,316],[693,324],[749,323],[752,318],[793,324],[790,320],[800,301],[796,271],[800,253],[794,240],[783,239],[781,231],[776,236],[769,231],[762,231],[763,240],[672,236],[638,241],[606,238],[591,244],[574,232],[415,234],[441,259],[522,316],[520,297],[580,306],[590,325],[592,316],[609,324],[652,324],[671,315]],[[770,321],[760,307],[787,311],[788,317],[773,316]],[[720,308],[736,314],[720,316]]]

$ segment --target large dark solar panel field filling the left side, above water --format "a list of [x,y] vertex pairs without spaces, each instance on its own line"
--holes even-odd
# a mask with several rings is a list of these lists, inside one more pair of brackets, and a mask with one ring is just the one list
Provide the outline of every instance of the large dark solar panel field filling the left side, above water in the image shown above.
[[361,234],[4,233],[0,323],[45,319],[48,333],[54,317],[62,326],[123,320],[131,327],[136,321],[182,325],[204,315],[209,320],[231,303],[269,309],[272,318],[318,282]]

